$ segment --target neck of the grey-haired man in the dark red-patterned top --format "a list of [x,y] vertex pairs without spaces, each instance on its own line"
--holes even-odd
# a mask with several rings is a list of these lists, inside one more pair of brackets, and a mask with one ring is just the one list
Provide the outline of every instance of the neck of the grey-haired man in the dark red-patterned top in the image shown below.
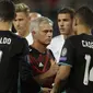
[[34,47],[35,49],[37,49],[39,53],[45,53],[46,51],[46,46],[42,45],[38,42],[35,42],[32,44],[32,47]]

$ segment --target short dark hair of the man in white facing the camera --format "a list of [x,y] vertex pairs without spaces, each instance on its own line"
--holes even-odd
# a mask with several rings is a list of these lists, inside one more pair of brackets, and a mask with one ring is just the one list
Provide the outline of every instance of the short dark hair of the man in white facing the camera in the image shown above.
[[72,8],[61,8],[58,11],[58,14],[60,14],[60,13],[69,13],[71,19],[73,19],[73,16],[74,16],[74,9],[72,9]]

